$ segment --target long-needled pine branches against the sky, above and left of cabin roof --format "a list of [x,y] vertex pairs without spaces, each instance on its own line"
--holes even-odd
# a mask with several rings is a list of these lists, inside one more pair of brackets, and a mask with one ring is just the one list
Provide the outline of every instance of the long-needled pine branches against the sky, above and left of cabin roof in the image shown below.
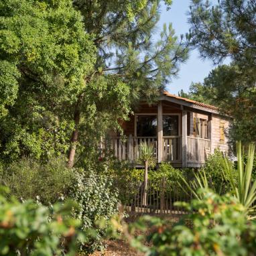
[[[170,7],[172,1],[165,2]],[[159,1],[76,0],[74,6],[84,16],[86,31],[94,34],[99,49],[95,71],[121,75],[133,98],[139,94],[155,98],[153,94],[188,58],[188,48],[175,36],[171,24],[164,25],[157,42],[151,40],[159,20]]]

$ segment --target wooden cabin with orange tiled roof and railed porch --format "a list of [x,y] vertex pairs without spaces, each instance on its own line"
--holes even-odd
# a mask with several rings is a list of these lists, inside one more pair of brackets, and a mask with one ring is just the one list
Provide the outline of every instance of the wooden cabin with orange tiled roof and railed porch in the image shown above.
[[217,147],[229,150],[225,135],[231,118],[217,107],[164,92],[155,105],[141,102],[123,131],[127,139],[114,137],[111,148],[119,160],[135,166],[142,141],[153,143],[158,163],[175,167],[200,167]]

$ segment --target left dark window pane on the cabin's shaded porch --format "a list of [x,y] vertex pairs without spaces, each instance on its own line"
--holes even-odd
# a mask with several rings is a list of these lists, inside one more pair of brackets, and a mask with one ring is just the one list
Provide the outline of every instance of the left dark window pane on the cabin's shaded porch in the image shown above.
[[137,137],[156,137],[157,117],[155,115],[137,116]]

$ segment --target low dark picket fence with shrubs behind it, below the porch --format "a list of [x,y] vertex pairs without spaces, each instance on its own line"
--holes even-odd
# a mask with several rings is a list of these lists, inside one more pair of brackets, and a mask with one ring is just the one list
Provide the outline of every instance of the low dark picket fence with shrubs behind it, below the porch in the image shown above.
[[190,202],[192,199],[189,190],[187,189],[188,193],[186,193],[184,189],[177,182],[170,182],[165,178],[159,182],[149,180],[146,192],[147,203],[143,205],[143,182],[139,182],[127,193],[125,208],[128,212],[186,214],[182,207],[175,205],[175,202]]

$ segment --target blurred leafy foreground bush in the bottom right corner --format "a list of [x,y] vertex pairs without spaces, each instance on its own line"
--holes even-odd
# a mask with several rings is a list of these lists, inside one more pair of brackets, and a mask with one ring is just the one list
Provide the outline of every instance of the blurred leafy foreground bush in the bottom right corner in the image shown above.
[[[202,194],[202,200],[180,203],[193,213],[174,225],[149,216],[130,225],[131,245],[145,255],[253,255],[256,225],[247,220],[243,206],[229,194]],[[147,235],[134,236],[137,229],[148,230]]]

